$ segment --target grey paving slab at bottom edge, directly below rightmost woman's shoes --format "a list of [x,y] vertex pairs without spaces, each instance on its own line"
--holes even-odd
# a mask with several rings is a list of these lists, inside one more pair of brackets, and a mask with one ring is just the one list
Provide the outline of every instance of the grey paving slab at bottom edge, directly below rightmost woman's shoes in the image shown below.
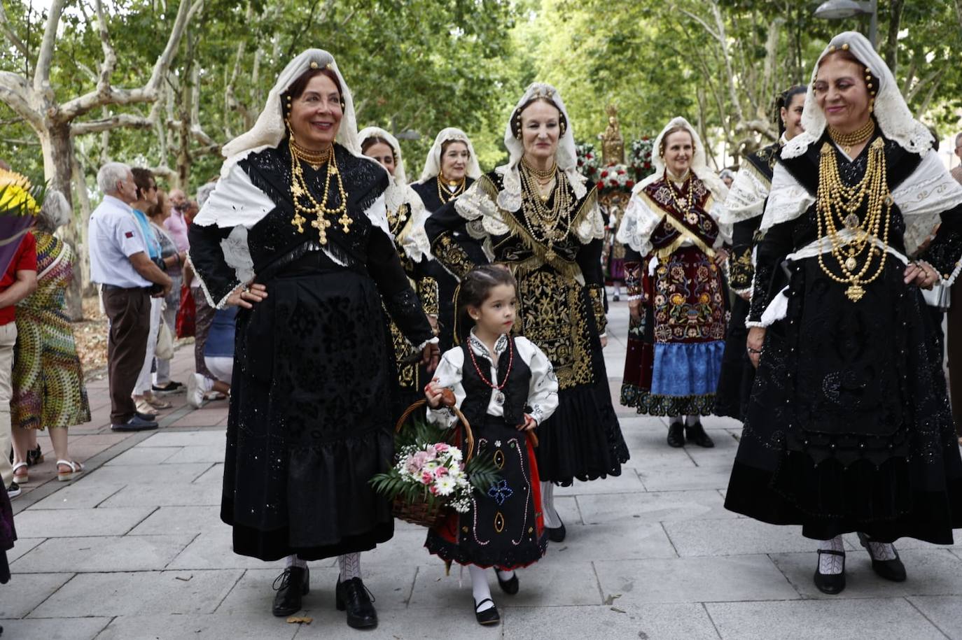
[[707,603],[705,606],[726,640],[945,639],[918,609],[900,598]]

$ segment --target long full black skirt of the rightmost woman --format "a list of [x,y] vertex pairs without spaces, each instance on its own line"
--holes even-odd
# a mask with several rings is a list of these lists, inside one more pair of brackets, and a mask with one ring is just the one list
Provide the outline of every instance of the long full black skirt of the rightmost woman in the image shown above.
[[864,531],[950,544],[962,461],[942,354],[889,258],[856,303],[814,258],[766,333],[725,506],[816,539]]

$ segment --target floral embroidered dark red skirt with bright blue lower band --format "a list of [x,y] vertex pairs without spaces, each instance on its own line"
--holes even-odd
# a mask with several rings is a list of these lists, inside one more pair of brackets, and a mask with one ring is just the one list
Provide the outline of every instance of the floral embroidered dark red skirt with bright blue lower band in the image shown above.
[[712,258],[682,247],[653,273],[642,261],[641,317],[628,327],[621,404],[648,415],[708,415],[724,351],[725,287]]

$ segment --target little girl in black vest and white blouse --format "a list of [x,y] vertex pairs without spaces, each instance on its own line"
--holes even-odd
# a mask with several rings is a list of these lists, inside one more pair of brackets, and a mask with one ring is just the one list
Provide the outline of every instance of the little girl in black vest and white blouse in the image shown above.
[[442,406],[442,394],[454,392],[474,434],[472,454],[490,458],[500,475],[486,493],[473,493],[467,513],[452,513],[424,543],[445,561],[468,565],[481,625],[500,620],[485,570],[494,567],[501,589],[516,594],[515,570],[537,562],[547,547],[531,436],[558,406],[558,379],[541,349],[510,334],[517,295],[515,277],[503,266],[486,264],[468,273],[458,294],[458,318],[470,332],[443,355],[424,390],[428,421],[444,428],[456,418]]

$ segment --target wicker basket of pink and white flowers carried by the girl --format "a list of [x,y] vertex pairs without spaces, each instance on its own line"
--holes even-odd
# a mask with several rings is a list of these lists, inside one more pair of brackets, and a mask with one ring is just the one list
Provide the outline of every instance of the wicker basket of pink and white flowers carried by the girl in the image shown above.
[[[441,521],[448,509],[466,513],[471,493],[487,492],[499,480],[498,469],[490,459],[464,455],[461,449],[439,440],[437,427],[418,417],[408,420],[424,402],[409,407],[398,421],[394,437],[394,464],[386,473],[370,480],[374,491],[393,502],[394,517],[431,527]],[[454,410],[465,430],[467,450],[473,449],[473,436],[467,420]],[[449,440],[457,429],[447,430]]]

